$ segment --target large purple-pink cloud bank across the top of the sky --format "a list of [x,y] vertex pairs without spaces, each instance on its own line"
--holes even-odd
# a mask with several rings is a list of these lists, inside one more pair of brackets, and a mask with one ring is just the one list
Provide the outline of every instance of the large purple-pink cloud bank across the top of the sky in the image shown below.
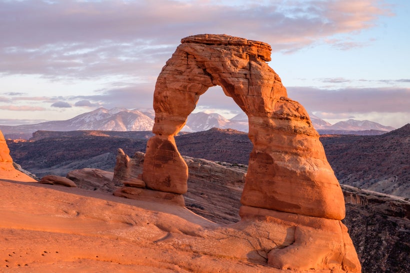
[[[376,0],[1,1],[0,70],[73,78],[122,74],[146,82],[188,35],[226,33],[293,52],[342,44],[332,37],[370,28],[383,15],[390,10]],[[347,42],[343,47],[355,46]]]

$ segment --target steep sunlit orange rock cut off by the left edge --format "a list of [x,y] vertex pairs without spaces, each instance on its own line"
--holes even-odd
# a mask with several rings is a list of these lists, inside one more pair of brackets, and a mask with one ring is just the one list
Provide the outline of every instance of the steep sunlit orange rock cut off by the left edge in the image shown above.
[[16,170],[10,156],[10,150],[5,143],[3,134],[0,131],[0,179],[15,180],[22,182],[35,182],[30,176]]

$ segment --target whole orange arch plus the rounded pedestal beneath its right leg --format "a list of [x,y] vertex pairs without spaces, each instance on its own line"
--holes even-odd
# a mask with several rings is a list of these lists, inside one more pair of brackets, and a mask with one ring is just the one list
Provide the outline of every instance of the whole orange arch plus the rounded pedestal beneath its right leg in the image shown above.
[[187,166],[173,136],[199,96],[219,85],[248,116],[253,143],[241,197],[242,221],[264,217],[288,227],[292,238],[288,245],[273,248],[267,263],[280,269],[359,272],[340,222],[344,200],[338,181],[305,109],[287,98],[279,76],[267,65],[270,51],[266,43],[228,35],[181,40],[156,81],[155,136],[147,143],[142,180],[150,190],[186,192]]

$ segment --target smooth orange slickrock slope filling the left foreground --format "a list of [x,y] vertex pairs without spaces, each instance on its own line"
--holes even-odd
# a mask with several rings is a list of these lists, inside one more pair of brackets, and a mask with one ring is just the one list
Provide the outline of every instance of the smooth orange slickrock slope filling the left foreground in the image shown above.
[[219,227],[169,204],[39,183],[0,188],[0,272],[280,272],[256,252],[263,222]]

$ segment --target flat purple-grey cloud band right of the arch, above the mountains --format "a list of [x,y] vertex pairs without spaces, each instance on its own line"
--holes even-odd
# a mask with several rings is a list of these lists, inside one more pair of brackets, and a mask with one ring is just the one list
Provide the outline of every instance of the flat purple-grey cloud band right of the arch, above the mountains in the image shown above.
[[288,96],[310,111],[329,113],[407,112],[410,113],[410,88],[288,87]]

